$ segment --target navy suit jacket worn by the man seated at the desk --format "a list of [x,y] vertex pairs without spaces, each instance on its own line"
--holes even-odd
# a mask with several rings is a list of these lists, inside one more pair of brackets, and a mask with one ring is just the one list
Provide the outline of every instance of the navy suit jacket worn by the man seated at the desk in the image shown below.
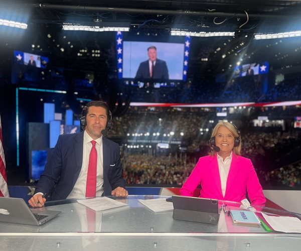
[[[36,191],[51,195],[51,200],[66,199],[79,176],[83,161],[84,132],[60,135],[41,175]],[[118,144],[102,137],[104,196],[124,187]]]

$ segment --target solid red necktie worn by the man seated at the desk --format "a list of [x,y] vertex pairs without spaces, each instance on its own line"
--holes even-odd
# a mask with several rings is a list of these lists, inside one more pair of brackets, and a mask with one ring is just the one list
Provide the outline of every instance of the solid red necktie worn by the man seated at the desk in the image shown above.
[[97,169],[97,151],[95,148],[96,141],[91,141],[92,149],[89,157],[89,166],[86,184],[86,197],[96,196],[96,169]]

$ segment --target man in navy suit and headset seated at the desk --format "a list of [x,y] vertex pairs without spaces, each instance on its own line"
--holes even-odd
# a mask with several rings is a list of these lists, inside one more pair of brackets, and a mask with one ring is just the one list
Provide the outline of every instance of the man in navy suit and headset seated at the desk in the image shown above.
[[128,195],[124,189],[119,146],[103,137],[111,128],[111,119],[106,103],[91,101],[87,104],[81,117],[85,131],[59,136],[35,195],[28,201],[31,206],[43,206],[46,198],[42,195],[45,194],[51,195],[51,200],[86,197],[92,141],[96,142],[97,152],[96,196]]

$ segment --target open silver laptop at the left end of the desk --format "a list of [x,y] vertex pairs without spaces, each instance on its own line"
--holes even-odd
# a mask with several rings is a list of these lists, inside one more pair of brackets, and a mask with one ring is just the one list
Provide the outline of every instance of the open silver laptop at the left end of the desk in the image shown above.
[[30,209],[24,199],[0,197],[0,221],[29,225],[42,225],[61,211],[44,207]]

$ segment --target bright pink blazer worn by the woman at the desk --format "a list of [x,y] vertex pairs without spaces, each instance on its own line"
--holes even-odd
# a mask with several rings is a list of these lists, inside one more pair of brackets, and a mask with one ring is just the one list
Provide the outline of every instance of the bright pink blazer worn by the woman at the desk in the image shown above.
[[183,196],[193,196],[198,185],[202,186],[200,196],[219,200],[240,202],[246,198],[246,191],[252,205],[265,204],[265,197],[250,159],[232,153],[225,196],[222,194],[217,155],[199,159],[197,165],[180,189]]

